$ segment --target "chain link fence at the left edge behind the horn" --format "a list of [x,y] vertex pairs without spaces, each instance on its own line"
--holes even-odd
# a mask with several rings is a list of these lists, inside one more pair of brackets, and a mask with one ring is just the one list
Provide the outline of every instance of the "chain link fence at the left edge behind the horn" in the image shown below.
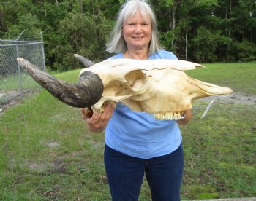
[[[24,32],[24,31],[23,31]],[[24,58],[40,70],[46,71],[42,33],[37,40],[0,39],[0,106],[20,97],[23,92],[39,87],[17,63],[16,58]]]

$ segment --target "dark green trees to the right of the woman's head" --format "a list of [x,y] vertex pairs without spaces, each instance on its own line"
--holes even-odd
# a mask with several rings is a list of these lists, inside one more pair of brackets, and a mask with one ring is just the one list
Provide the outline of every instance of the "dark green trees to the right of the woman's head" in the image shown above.
[[[162,43],[178,58],[188,55],[188,60],[198,62],[255,60],[255,1],[176,0],[170,1],[169,6],[163,2],[151,1]],[[173,4],[177,5],[174,16]],[[174,30],[170,29],[173,17]],[[249,50],[243,45],[245,41]],[[246,52],[246,56],[240,52]]]

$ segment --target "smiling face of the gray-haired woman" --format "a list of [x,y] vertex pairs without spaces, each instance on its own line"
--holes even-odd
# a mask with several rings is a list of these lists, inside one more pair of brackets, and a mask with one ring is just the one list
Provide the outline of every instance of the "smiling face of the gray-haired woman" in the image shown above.
[[148,48],[151,40],[151,18],[144,17],[140,12],[132,17],[129,17],[123,25],[123,36],[127,43],[128,50],[142,50]]

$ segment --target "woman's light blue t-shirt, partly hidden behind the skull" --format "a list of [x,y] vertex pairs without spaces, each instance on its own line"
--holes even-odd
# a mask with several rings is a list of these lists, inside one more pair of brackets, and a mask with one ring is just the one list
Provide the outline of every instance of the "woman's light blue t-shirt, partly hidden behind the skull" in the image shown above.
[[[109,59],[124,58],[122,53]],[[172,52],[160,50],[153,59],[178,59]],[[105,143],[132,157],[149,159],[170,154],[181,144],[181,131],[175,120],[159,120],[146,112],[132,111],[117,103],[105,130]]]

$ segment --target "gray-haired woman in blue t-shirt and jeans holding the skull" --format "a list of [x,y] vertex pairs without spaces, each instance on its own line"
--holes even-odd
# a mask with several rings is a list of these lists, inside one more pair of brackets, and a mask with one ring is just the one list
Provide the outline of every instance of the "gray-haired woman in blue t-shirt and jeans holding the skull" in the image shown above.
[[[154,12],[139,0],[121,7],[107,50],[117,53],[110,59],[177,59],[161,49]],[[180,200],[184,160],[178,124],[187,124],[192,111],[182,114],[184,119],[177,121],[156,120],[122,103],[92,117],[82,109],[91,132],[105,130],[105,170],[113,200],[138,200],[144,173],[152,200]]]

